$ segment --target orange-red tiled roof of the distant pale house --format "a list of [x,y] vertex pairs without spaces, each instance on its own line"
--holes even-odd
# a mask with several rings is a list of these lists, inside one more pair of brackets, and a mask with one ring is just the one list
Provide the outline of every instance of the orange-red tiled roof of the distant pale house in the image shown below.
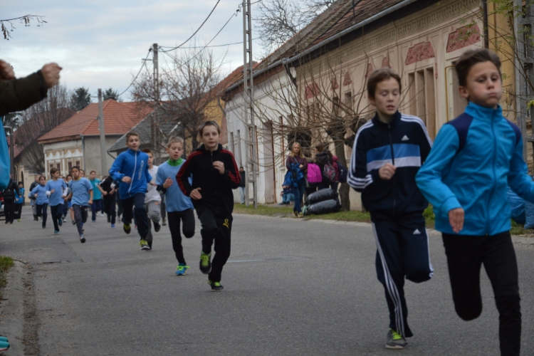
[[[147,116],[152,109],[139,103],[117,103],[108,99],[103,103],[105,135],[124,135]],[[98,136],[98,103],[91,103],[73,117],[39,138],[39,143],[75,140],[84,136]]]

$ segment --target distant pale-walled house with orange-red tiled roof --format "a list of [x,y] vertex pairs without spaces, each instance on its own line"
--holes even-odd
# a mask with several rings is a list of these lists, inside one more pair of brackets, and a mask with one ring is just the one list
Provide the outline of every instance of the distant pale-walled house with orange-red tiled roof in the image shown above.
[[[103,103],[105,147],[109,149],[132,127],[152,112],[152,109],[138,103],[117,103],[108,99]],[[46,174],[57,167],[63,174],[73,166],[90,170],[98,175],[108,174],[115,157],[100,152],[100,130],[98,128],[98,103],[91,103],[73,117],[58,125],[46,135],[39,137],[45,154]],[[108,167],[100,171],[100,155],[106,155]]]

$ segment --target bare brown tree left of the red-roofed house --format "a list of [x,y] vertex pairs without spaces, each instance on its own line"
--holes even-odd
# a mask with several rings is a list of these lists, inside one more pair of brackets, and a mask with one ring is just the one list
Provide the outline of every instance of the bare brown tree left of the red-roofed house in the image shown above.
[[65,85],[48,89],[46,98],[21,113],[21,126],[15,131],[16,145],[23,149],[22,162],[34,172],[44,172],[43,145],[38,137],[45,135],[73,116],[70,110],[69,91]]

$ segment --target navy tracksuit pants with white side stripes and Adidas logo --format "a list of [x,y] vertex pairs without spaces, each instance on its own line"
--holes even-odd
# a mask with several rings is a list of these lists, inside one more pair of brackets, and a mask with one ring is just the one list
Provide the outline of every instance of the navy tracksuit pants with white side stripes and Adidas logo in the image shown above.
[[377,243],[377,277],[384,285],[389,328],[403,337],[412,337],[404,298],[404,278],[414,283],[434,275],[430,263],[429,238],[422,212],[397,218],[371,213]]

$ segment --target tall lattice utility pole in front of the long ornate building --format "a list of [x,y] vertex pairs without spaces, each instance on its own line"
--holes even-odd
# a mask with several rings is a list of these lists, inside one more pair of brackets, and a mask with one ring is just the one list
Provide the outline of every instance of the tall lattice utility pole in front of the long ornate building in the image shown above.
[[[248,174],[246,176],[245,203],[252,201],[254,209],[258,209],[258,187],[256,179],[258,178],[258,164],[256,162],[256,122],[254,122],[254,85],[253,85],[253,61],[252,61],[252,26],[251,26],[251,0],[243,0],[243,92],[245,98],[244,122],[248,127],[248,140],[245,140],[246,150],[246,167]],[[252,184],[252,197],[249,197],[249,187]]]

